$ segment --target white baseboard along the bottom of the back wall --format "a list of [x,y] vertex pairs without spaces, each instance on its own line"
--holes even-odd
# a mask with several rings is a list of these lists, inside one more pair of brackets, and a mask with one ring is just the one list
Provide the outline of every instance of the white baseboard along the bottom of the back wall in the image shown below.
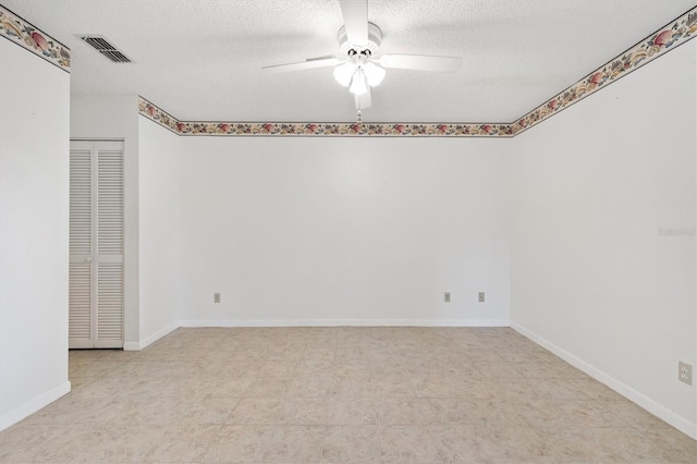
[[181,327],[509,327],[504,319],[189,319]]

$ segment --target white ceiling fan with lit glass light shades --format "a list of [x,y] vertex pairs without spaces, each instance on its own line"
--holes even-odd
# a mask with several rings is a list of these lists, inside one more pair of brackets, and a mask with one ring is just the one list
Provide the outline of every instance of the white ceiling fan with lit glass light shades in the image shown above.
[[265,66],[271,72],[289,72],[333,66],[334,78],[354,95],[358,121],[362,110],[370,107],[370,88],[378,86],[387,69],[455,72],[462,65],[456,57],[423,54],[382,54],[382,30],[368,22],[368,0],[339,0],[344,26],[339,29],[339,56],[308,58],[289,64]]

